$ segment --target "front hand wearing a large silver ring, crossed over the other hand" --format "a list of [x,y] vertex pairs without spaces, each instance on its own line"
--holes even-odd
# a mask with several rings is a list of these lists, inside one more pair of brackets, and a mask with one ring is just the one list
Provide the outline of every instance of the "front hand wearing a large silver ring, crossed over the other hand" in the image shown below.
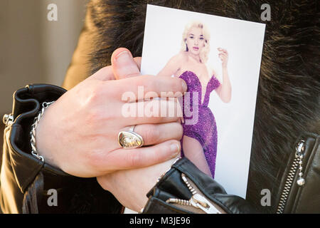
[[[119,57],[117,61],[122,60]],[[135,66],[135,72],[139,72],[134,61],[125,65],[132,69]],[[102,68],[46,109],[36,128],[36,147],[46,162],[70,175],[97,177],[164,162],[180,152],[182,128],[176,123],[178,116],[125,118],[122,95],[131,91],[137,98],[138,86],[144,86],[144,95],[149,91],[157,95],[169,91],[183,94],[185,82],[180,78],[129,75],[134,77],[114,80],[112,66]],[[130,107],[137,108],[137,101],[129,100]],[[150,103],[159,105],[159,110],[178,107],[172,99],[139,101],[143,108]],[[119,131],[131,125],[137,125],[134,131],[149,147],[125,150],[119,146]]]

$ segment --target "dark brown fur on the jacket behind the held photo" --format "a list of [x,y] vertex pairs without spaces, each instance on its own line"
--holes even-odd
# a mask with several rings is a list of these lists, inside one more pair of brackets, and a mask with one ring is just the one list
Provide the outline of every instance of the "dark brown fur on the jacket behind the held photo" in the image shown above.
[[[88,4],[98,30],[91,73],[110,65],[112,51],[126,47],[142,55],[146,4],[167,6],[247,21],[260,21],[265,1],[118,1]],[[287,157],[306,131],[320,131],[320,24],[317,1],[274,1],[266,21],[247,199],[260,207],[260,192],[279,188]],[[318,7],[318,9],[317,9]],[[274,212],[277,202],[267,211]],[[266,208],[265,208],[266,209]]]

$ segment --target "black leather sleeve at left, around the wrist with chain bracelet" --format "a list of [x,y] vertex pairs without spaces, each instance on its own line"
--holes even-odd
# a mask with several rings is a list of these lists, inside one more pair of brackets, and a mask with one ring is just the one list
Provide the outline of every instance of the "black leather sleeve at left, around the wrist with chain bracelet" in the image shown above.
[[[58,86],[38,84],[14,93],[14,122],[4,130],[0,176],[3,213],[119,213],[122,210],[121,204],[95,178],[73,177],[31,155],[29,133],[41,103],[57,100],[65,91]],[[56,201],[49,194],[48,190],[52,189]]]

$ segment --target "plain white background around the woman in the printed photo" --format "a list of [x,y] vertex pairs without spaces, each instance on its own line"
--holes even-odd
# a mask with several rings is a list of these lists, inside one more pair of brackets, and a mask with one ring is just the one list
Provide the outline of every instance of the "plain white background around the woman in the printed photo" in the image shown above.
[[217,48],[229,54],[232,99],[223,103],[214,91],[210,93],[209,108],[218,128],[215,180],[229,194],[245,198],[265,24],[148,5],[142,74],[156,75],[164,68],[180,51],[184,27],[195,20],[210,31],[208,66],[215,69],[220,82]]

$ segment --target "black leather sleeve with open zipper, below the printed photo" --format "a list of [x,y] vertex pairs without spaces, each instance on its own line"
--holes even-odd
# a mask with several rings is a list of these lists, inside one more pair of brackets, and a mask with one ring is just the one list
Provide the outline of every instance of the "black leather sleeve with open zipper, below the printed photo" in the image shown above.
[[[250,202],[236,195],[228,195],[224,188],[208,175],[204,174],[186,157],[178,160],[171,170],[161,177],[159,182],[148,193],[149,200],[143,209],[146,214],[166,213],[205,213],[191,205],[167,202],[168,199],[181,199],[184,202],[193,197],[193,193],[182,176],[189,179],[189,185],[201,193],[220,213],[257,213]],[[190,202],[190,201],[189,201]]]

